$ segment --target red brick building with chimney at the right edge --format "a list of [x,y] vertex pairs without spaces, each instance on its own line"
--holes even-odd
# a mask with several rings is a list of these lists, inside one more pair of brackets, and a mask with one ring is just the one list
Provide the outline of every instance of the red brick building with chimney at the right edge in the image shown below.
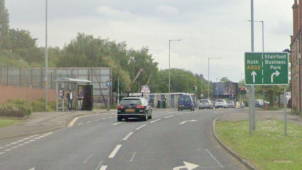
[[302,37],[302,0],[294,1],[293,35],[291,36],[291,106],[298,113],[301,111],[301,37]]

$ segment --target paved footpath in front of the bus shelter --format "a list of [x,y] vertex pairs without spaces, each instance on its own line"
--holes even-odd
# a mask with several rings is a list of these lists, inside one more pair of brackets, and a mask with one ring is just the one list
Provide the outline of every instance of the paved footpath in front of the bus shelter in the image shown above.
[[116,110],[35,112],[21,123],[0,128],[0,140],[57,130],[65,127],[75,117],[106,112]]

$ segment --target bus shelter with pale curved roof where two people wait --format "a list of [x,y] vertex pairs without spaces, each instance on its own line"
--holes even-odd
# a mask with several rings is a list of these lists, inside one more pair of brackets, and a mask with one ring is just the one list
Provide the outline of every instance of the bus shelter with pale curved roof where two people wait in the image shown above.
[[[64,107],[67,99],[66,94],[69,89],[72,90],[75,100],[73,100],[73,106],[77,108],[77,96],[78,94],[83,95],[82,110],[93,109],[93,85],[92,81],[84,79],[73,79],[73,78],[58,78],[54,81],[56,84],[56,111],[64,111],[67,107]],[[67,92],[65,92],[65,90]],[[66,93],[66,94],[65,94]],[[66,108],[66,109],[65,109]],[[74,109],[76,110],[76,109]]]

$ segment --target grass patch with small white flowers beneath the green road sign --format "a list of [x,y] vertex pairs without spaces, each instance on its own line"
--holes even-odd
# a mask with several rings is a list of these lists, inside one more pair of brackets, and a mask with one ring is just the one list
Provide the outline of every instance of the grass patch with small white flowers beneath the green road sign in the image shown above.
[[217,121],[218,137],[243,159],[258,169],[301,169],[302,126],[283,121],[257,121],[256,131],[248,135],[247,121]]

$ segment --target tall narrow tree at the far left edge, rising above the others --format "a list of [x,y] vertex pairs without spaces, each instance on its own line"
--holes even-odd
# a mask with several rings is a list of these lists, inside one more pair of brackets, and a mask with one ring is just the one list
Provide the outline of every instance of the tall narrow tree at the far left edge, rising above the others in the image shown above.
[[9,29],[9,14],[5,8],[5,0],[0,0],[0,50],[5,49]]

